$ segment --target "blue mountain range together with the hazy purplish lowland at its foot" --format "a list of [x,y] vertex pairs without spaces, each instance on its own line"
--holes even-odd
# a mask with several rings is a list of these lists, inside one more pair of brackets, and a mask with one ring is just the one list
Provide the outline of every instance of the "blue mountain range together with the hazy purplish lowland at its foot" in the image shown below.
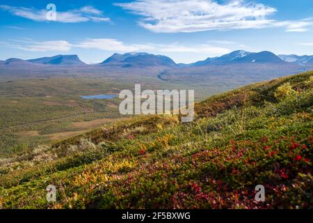
[[86,64],[77,55],[56,55],[38,59],[0,61],[0,77],[83,76],[122,79],[161,79],[203,88],[232,89],[284,75],[313,70],[313,56],[275,55],[272,52],[237,50],[223,56],[184,64],[168,56],[131,52],[113,54],[97,64]]

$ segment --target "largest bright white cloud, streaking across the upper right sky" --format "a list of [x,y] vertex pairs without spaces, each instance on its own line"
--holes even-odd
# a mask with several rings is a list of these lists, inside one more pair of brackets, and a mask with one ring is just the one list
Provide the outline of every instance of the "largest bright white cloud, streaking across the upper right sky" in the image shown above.
[[115,3],[141,15],[140,26],[156,33],[179,33],[225,29],[285,27],[286,31],[306,31],[312,20],[275,21],[266,17],[275,8],[244,0],[218,3],[216,0],[135,0]]

